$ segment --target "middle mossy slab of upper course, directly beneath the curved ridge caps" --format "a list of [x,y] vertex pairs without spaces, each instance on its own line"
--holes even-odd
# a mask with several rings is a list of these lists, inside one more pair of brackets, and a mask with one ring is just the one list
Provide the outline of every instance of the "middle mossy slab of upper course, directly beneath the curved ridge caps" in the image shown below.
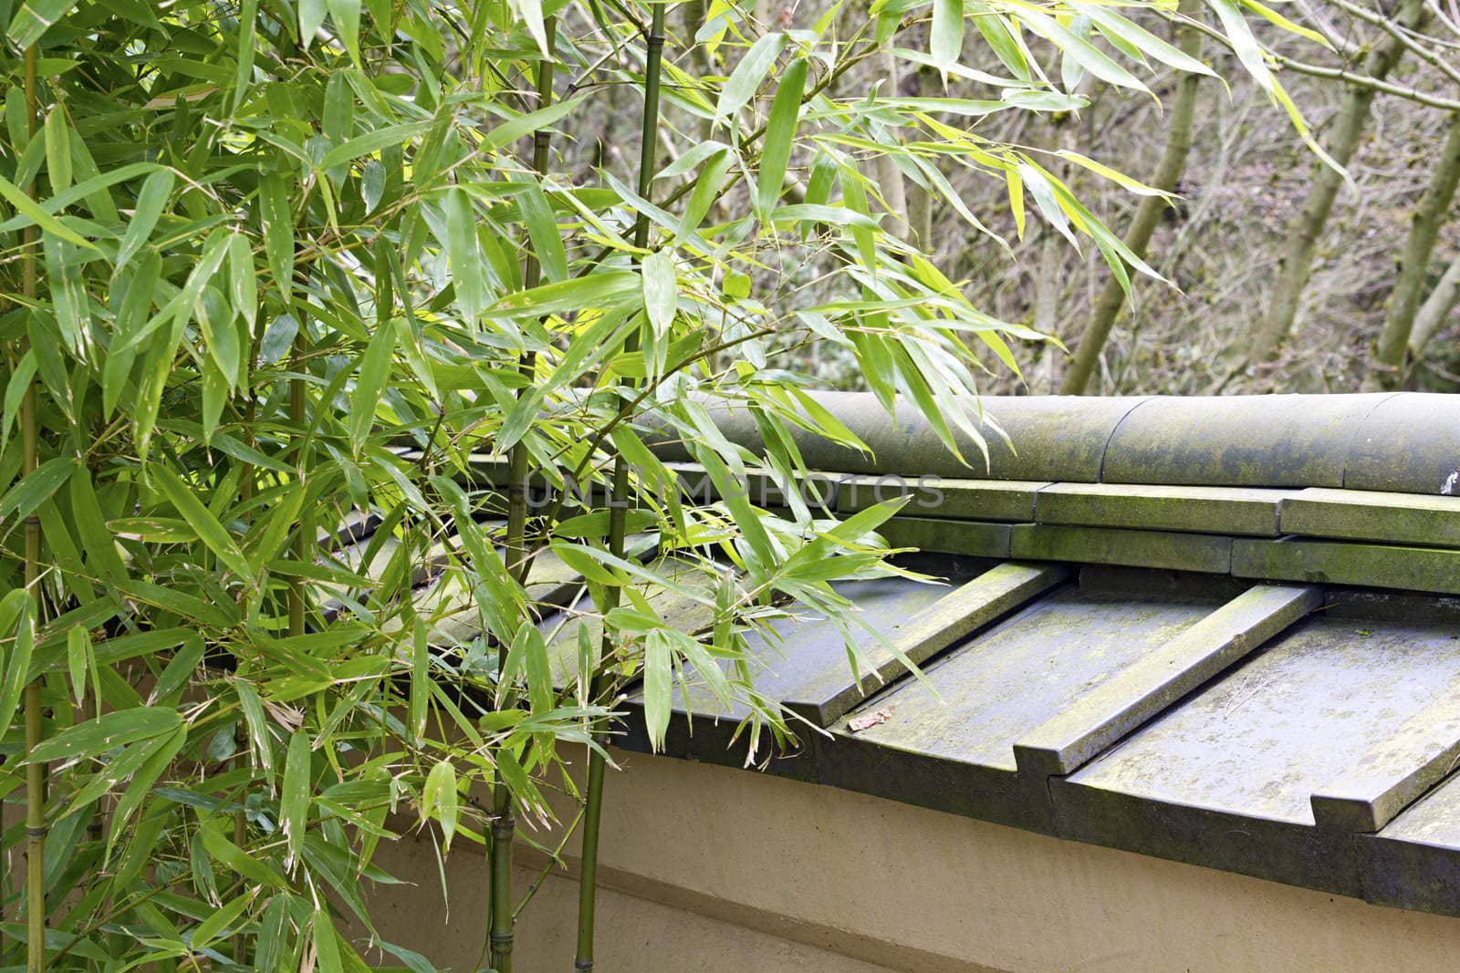
[[1040,524],[1278,537],[1286,492],[1254,487],[1053,483],[1035,497]]

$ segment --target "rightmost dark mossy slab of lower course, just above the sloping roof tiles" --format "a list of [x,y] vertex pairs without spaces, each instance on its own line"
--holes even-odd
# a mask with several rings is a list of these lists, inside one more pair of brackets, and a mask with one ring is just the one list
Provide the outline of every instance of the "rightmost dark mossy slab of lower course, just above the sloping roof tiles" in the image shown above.
[[1238,578],[1460,594],[1460,551],[1353,541],[1232,541]]

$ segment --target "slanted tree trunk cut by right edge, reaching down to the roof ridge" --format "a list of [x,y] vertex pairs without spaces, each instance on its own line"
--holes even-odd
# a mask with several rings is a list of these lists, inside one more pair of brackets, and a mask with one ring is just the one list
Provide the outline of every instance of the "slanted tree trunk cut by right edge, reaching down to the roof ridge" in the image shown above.
[[1415,207],[1405,254],[1400,257],[1399,276],[1388,296],[1384,330],[1378,346],[1369,359],[1364,388],[1368,391],[1399,388],[1405,381],[1405,350],[1419,312],[1429,257],[1435,249],[1440,229],[1450,216],[1456,185],[1460,184],[1460,112],[1450,115],[1450,130],[1445,144],[1435,162],[1435,172]]

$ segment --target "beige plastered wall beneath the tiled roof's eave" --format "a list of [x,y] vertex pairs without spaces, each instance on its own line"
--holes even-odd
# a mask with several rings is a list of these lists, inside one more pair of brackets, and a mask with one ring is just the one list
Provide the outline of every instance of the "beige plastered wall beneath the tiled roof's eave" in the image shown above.
[[[599,970],[1450,970],[1442,919],[1094,848],[845,791],[641,754],[606,786]],[[380,862],[385,938],[474,970],[486,874],[429,848]],[[524,849],[520,859],[531,859]],[[520,887],[531,878],[520,877]],[[518,973],[571,969],[575,893],[549,880]],[[384,904],[384,903],[381,903]]]

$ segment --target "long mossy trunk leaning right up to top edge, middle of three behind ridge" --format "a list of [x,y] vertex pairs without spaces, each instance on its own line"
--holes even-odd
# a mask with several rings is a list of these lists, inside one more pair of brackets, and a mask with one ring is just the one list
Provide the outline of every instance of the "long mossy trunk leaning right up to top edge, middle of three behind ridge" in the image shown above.
[[[1415,29],[1429,16],[1424,0],[1403,0],[1394,20],[1406,29]],[[1390,35],[1384,35],[1365,55],[1362,73],[1383,80],[1390,69],[1399,63],[1405,54],[1405,45]],[[1329,155],[1340,166],[1346,166],[1359,139],[1368,124],[1369,106],[1374,102],[1375,90],[1369,86],[1350,85],[1333,121],[1333,133],[1329,139]],[[1298,317],[1302,303],[1302,292],[1308,286],[1308,276],[1313,273],[1313,254],[1323,233],[1329,214],[1333,212],[1333,200],[1339,193],[1343,177],[1323,162],[1314,163],[1313,184],[1302,209],[1288,225],[1288,238],[1283,241],[1278,261],[1278,283],[1273,286],[1272,298],[1267,302],[1267,315],[1263,318],[1253,336],[1247,352],[1247,363],[1259,365],[1270,360]]]

